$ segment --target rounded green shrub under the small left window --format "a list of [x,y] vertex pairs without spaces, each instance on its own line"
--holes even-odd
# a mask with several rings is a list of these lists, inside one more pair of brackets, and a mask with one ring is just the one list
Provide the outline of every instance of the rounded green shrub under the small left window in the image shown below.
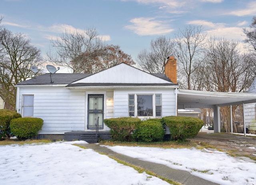
[[36,117],[20,117],[10,121],[12,133],[19,139],[32,138],[42,129],[43,120]]

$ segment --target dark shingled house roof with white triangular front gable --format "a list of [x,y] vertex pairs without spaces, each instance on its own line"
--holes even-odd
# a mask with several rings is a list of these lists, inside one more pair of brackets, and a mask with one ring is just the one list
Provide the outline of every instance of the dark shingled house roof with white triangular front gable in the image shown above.
[[74,86],[174,86],[164,74],[149,74],[128,64],[118,64],[96,74],[50,74],[20,82],[17,85],[67,85]]

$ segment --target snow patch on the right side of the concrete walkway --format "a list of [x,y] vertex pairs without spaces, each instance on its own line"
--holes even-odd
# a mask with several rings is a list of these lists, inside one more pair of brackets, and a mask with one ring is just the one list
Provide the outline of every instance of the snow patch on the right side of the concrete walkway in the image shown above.
[[[189,171],[221,185],[256,185],[256,163],[209,149],[162,149],[152,147],[110,147],[113,151],[173,169]],[[255,149],[253,147],[252,149]]]

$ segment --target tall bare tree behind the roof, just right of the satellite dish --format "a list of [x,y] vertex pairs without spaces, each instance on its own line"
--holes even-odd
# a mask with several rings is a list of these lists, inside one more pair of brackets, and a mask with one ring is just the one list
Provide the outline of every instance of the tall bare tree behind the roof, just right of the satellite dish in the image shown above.
[[82,33],[66,30],[57,40],[52,39],[51,44],[54,50],[47,54],[48,60],[71,68],[73,73],[93,73],[98,56],[104,51],[104,43],[95,28],[88,28]]

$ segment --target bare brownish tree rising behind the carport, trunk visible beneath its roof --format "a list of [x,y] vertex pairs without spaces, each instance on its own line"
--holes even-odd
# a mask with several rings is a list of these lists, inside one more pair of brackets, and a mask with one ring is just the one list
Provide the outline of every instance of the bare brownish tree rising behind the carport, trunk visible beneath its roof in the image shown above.
[[[251,54],[243,54],[239,42],[226,39],[210,38],[207,42],[206,61],[204,69],[204,88],[217,92],[244,92],[255,78],[254,63]],[[232,116],[236,109],[233,106]],[[222,128],[230,132],[230,107],[221,107]],[[234,119],[233,119],[234,120]],[[236,126],[233,121],[233,131]]]

